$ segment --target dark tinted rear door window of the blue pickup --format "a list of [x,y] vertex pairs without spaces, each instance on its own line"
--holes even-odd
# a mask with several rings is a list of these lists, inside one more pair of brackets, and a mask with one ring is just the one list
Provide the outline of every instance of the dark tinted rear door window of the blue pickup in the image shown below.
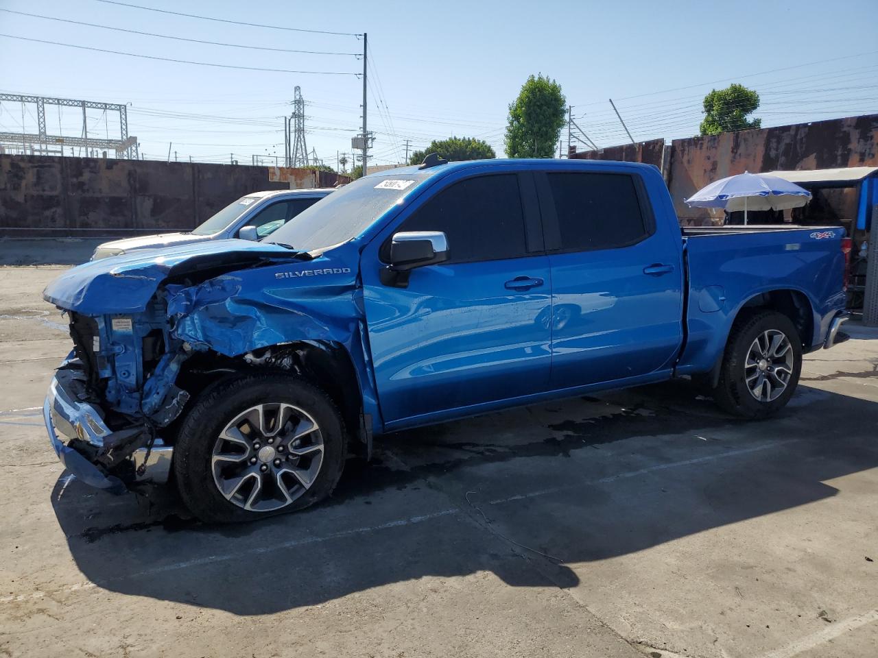
[[564,251],[625,247],[646,235],[637,188],[630,175],[548,176]]

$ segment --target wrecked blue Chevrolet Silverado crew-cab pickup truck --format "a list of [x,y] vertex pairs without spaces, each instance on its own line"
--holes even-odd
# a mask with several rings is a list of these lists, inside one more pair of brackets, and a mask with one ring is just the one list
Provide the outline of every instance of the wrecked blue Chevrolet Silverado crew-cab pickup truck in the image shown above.
[[104,490],[173,475],[201,519],[327,497],[372,438],[697,375],[787,404],[844,334],[843,230],[681,230],[656,168],[493,160],[366,176],[269,241],[105,258],[44,297],[74,350],[45,420]]

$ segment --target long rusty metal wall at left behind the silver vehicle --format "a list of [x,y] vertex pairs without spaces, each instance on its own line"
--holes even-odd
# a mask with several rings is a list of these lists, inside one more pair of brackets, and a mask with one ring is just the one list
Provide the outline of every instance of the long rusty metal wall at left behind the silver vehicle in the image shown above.
[[248,192],[289,188],[265,167],[0,154],[0,234],[189,230]]

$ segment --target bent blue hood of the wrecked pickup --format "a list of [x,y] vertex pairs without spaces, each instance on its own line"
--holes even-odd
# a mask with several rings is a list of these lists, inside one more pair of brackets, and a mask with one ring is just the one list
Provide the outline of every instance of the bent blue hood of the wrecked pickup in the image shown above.
[[280,245],[248,240],[213,240],[180,247],[144,249],[72,268],[49,283],[43,298],[83,315],[143,311],[169,277],[221,267],[227,272],[308,259]]

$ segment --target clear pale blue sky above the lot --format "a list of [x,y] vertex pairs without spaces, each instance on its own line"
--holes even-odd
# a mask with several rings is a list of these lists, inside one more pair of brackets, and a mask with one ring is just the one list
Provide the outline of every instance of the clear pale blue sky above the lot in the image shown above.
[[[874,0],[125,2],[250,23],[368,32],[376,163],[401,160],[405,139],[419,148],[451,134],[486,139],[502,154],[507,105],[537,72],[561,84],[577,124],[600,147],[627,141],[608,98],[617,101],[635,139],[670,139],[696,133],[701,98],[729,82],[759,91],[755,116],[763,125],[878,112]],[[352,36],[230,25],[98,0],[0,0],[0,9],[248,46],[362,50]],[[363,67],[350,55],[194,44],[8,11],[0,11],[0,32],[233,66],[351,73]],[[210,68],[5,37],[0,62],[0,89],[7,93],[130,103],[129,133],[153,159],[167,156],[169,142],[180,160],[228,161],[234,153],[243,163],[253,154],[282,156],[281,117],[290,111],[296,85],[308,103],[308,148],[327,164],[335,166],[337,151],[350,151],[350,136],[360,125],[362,83],[353,75]],[[809,62],[819,63],[801,66]],[[47,113],[50,131],[54,126],[65,134],[78,133],[80,118],[65,110],[59,126],[54,110]],[[19,105],[0,106],[0,131],[21,132],[23,119],[25,130],[35,131],[35,118],[22,118]],[[90,111],[89,125],[90,134],[113,134],[100,111]]]

